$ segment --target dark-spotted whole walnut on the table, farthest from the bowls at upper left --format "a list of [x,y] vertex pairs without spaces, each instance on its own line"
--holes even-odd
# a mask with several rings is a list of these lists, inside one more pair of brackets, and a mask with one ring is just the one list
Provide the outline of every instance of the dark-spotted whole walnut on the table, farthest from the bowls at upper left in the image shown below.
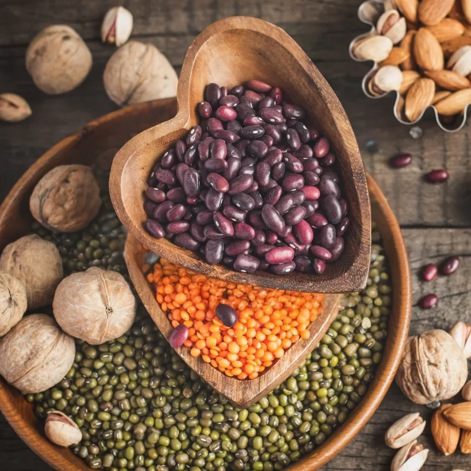
[[90,72],[92,53],[75,29],[55,24],[38,33],[26,50],[34,84],[51,95],[78,87]]

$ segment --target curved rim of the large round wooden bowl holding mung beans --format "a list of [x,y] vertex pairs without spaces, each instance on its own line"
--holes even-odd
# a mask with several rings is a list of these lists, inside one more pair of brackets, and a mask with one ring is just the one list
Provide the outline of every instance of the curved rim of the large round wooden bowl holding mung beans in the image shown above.
[[[80,141],[83,135],[86,135],[89,131],[97,128],[103,123],[110,122],[119,116],[128,114],[130,111],[144,110],[152,106],[152,104],[159,103],[163,105],[174,100],[174,98],[156,100],[151,103],[134,105],[109,113],[83,126],[76,133],[64,138],[51,149],[46,151],[23,173],[1,203],[0,228],[7,221],[8,211],[11,208],[13,200],[22,195],[22,189],[25,186],[30,184],[32,181],[37,181],[39,179],[37,175],[41,174],[41,170],[47,166],[47,162],[58,152],[70,149]],[[392,238],[393,243],[390,247],[390,252],[396,255],[398,261],[397,275],[399,277],[399,283],[398,286],[393,287],[393,311],[390,317],[390,323],[394,321],[394,332],[392,329],[390,330],[390,334],[388,335],[386,342],[386,352],[389,353],[389,356],[383,357],[383,360],[376,370],[375,378],[368,387],[366,395],[348,416],[345,423],[336,429],[326,442],[320,447],[317,447],[314,452],[286,468],[287,471],[317,470],[339,453],[340,450],[342,450],[360,432],[369,418],[373,415],[389,389],[389,386],[394,379],[395,372],[399,366],[402,352],[408,337],[412,311],[412,286],[407,249],[399,224],[394,213],[389,207],[386,198],[374,179],[368,174],[366,176],[372,199],[378,203],[380,213],[382,214],[381,217],[384,218],[384,222],[388,226],[389,235]],[[382,235],[384,236],[384,234]],[[391,253],[388,258],[390,258]],[[399,298],[399,302],[396,301],[396,297]],[[392,327],[392,324],[390,324],[390,327]],[[392,350],[394,350],[394,352]],[[394,355],[392,353],[394,353]],[[27,404],[26,401],[24,401],[24,406],[25,411],[29,412],[29,415],[32,415],[32,408],[31,410],[29,409],[30,405]],[[78,466],[71,462],[71,459],[79,459],[76,458],[70,450],[65,450],[53,445],[35,427],[29,425],[25,416],[21,415],[21,411],[18,411],[18,407],[12,401],[10,386],[6,385],[3,378],[0,378],[0,411],[23,442],[55,470],[90,471],[90,468],[88,468],[82,461],[80,461],[80,465]],[[83,466],[81,466],[82,464]]]

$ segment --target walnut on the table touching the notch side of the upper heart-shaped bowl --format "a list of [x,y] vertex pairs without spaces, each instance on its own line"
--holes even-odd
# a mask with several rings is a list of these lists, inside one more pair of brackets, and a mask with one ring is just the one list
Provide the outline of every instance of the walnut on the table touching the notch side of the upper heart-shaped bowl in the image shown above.
[[111,100],[123,106],[174,97],[178,77],[155,46],[129,41],[108,60],[103,81]]

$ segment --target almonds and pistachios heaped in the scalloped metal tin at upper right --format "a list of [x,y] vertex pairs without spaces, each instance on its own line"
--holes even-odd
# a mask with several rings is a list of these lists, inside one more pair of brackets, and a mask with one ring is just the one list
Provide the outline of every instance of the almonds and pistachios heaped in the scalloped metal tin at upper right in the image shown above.
[[371,95],[399,92],[398,117],[414,122],[435,105],[451,123],[471,103],[471,0],[386,0],[376,30],[352,53],[378,64]]

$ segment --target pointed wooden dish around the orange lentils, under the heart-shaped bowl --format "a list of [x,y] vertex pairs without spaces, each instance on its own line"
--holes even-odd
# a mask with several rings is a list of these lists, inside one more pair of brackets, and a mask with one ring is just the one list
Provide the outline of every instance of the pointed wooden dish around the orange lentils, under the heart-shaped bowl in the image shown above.
[[[160,309],[153,288],[142,272],[145,256],[146,251],[141,242],[129,234],[124,250],[129,275],[147,312],[157,324],[160,332],[168,339],[172,326],[167,316]],[[196,371],[214,389],[226,396],[233,404],[241,409],[246,409],[288,378],[314,349],[337,315],[340,297],[341,295],[336,294],[324,295],[322,311],[317,319],[309,325],[311,336],[306,340],[300,339],[292,345],[280,359],[276,360],[270,368],[267,368],[255,379],[240,380],[236,377],[226,376],[214,366],[205,363],[201,357],[191,356],[188,347],[181,346],[175,348],[175,351],[190,368]]]

